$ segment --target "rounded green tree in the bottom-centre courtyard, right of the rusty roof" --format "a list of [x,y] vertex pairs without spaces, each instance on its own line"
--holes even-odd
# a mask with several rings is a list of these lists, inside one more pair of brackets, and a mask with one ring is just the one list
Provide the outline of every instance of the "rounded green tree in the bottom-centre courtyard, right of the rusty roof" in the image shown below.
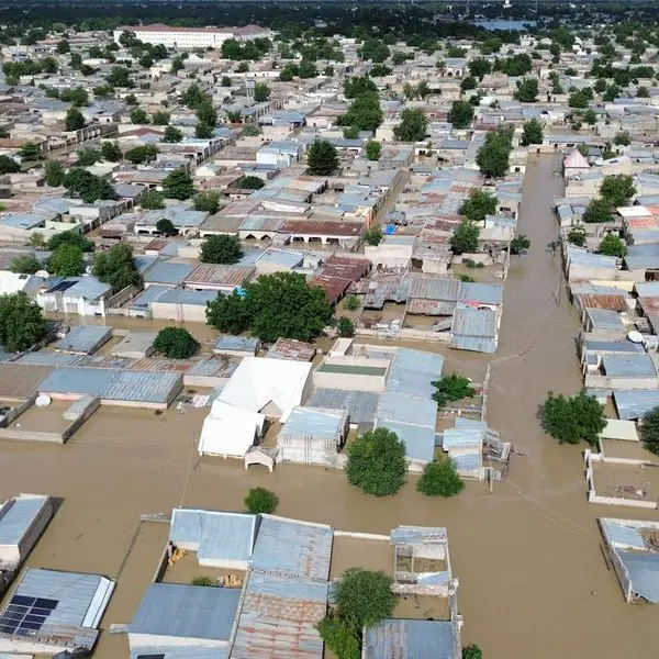
[[373,627],[393,613],[396,599],[392,584],[393,579],[384,572],[346,570],[336,584],[336,615],[359,630]]

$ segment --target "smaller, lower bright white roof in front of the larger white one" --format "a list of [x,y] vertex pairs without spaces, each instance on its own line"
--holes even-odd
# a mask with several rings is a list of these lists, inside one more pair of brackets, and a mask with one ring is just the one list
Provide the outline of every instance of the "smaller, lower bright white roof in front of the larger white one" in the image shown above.
[[215,400],[203,422],[199,455],[243,458],[263,433],[265,420],[263,414]]

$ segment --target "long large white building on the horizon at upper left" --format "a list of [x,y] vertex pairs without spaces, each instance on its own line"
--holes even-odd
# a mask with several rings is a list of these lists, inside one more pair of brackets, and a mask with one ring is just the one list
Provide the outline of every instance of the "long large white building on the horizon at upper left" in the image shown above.
[[170,25],[122,25],[114,33],[114,41],[124,32],[132,32],[136,38],[145,44],[157,46],[161,44],[168,48],[219,48],[230,40],[248,41],[259,36],[270,36],[270,31],[258,25],[244,27],[172,27]]

